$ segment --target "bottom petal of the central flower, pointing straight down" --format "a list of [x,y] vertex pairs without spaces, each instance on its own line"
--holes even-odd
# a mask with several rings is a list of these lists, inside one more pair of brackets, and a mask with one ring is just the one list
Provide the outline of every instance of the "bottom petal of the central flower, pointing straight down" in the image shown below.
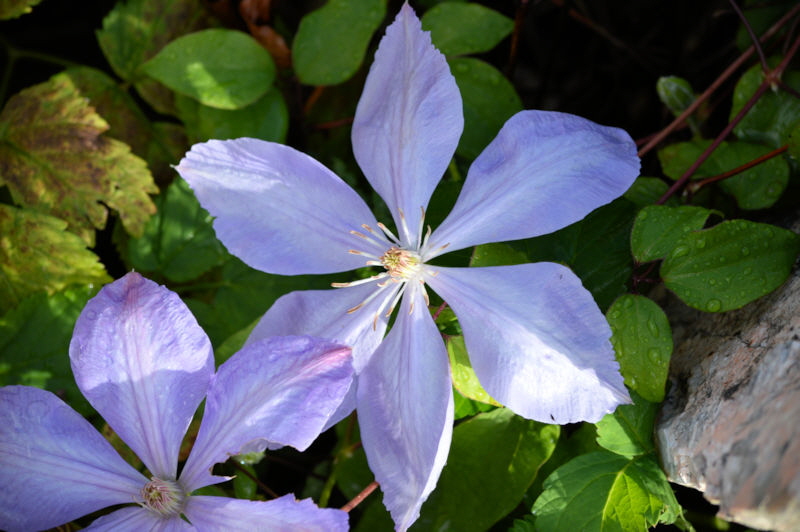
[[364,451],[397,530],[419,516],[453,433],[447,351],[421,289],[408,285],[392,330],[358,379]]

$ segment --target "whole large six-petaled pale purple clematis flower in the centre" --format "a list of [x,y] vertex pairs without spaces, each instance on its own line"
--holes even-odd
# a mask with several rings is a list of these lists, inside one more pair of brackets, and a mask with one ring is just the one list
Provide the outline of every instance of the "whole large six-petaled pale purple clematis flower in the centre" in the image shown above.
[[431,263],[452,250],[555,231],[620,196],[639,172],[630,136],[568,114],[520,112],[472,163],[452,212],[431,231],[425,209],[462,129],[447,62],[404,4],[375,54],[352,129],[356,160],[395,231],[333,172],[287,146],[212,140],[193,146],[177,167],[216,217],[219,239],[253,268],[283,275],[378,268],[335,290],[283,296],[250,341],[314,334],[352,346],[356,389],[337,416],[357,407],[367,459],[398,530],[418,517],[452,434],[450,369],[428,288],[458,317],[483,387],[517,414],[597,421],[630,400],[609,326],[568,268]]

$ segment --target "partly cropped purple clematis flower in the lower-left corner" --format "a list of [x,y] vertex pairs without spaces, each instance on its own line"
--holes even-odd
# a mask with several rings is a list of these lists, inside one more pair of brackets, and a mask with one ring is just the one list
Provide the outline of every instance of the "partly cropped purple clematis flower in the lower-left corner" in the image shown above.
[[[310,499],[191,493],[228,480],[211,467],[229,455],[307,447],[352,384],[350,349],[312,337],[264,339],[214,374],[211,344],[189,309],[165,287],[130,273],[87,303],[70,359],[81,392],[152,477],[52,393],[0,388],[0,529],[46,529],[131,503],[89,528],[347,530],[345,512]],[[197,440],[178,476],[181,440],[204,398]]]

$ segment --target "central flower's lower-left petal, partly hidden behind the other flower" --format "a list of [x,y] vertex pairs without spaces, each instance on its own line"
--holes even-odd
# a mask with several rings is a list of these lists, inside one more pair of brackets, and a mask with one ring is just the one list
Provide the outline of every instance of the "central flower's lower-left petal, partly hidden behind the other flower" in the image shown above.
[[[389,283],[375,294],[375,283],[334,290],[304,290],[282,296],[255,326],[247,343],[271,336],[309,335],[349,346],[353,350],[356,373],[383,340],[388,317],[387,306],[399,286]],[[367,301],[358,310],[362,302]]]

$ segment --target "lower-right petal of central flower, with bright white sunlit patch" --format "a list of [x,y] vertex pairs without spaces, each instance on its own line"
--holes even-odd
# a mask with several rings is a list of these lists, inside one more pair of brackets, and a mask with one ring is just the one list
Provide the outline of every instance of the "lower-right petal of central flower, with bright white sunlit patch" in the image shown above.
[[544,423],[599,421],[630,402],[611,329],[580,279],[552,262],[432,268],[483,387]]

